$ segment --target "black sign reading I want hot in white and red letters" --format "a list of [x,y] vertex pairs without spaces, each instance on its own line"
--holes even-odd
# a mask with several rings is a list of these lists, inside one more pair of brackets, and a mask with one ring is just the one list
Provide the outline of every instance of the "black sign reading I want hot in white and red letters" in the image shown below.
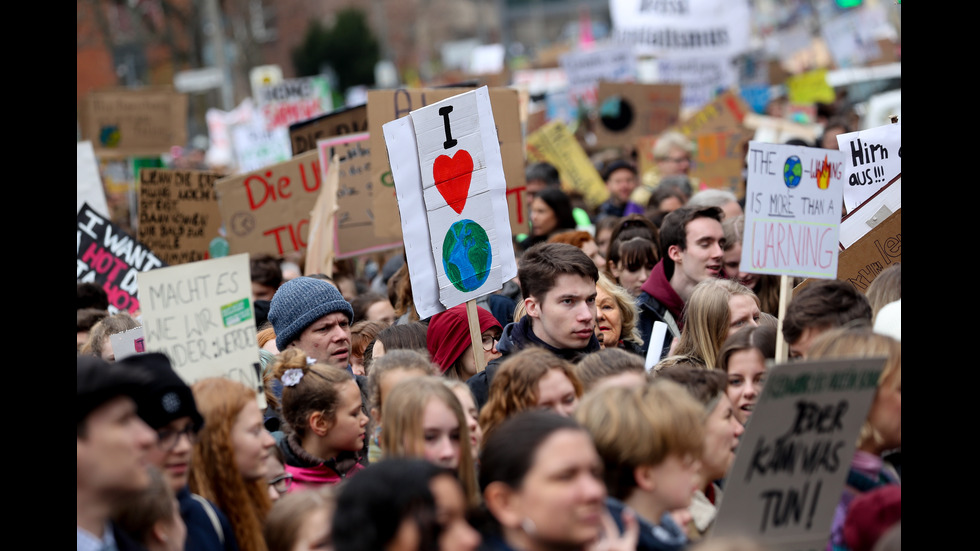
[[88,204],[78,211],[75,246],[75,279],[101,285],[113,314],[139,312],[137,274],[167,265]]

